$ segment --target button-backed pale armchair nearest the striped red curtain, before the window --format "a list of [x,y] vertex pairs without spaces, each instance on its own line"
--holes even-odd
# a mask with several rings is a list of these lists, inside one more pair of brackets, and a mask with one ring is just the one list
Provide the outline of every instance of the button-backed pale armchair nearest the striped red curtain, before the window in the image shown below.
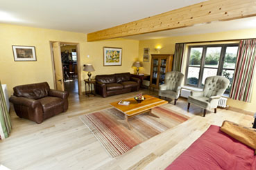
[[227,89],[228,84],[230,81],[223,76],[207,77],[203,91],[191,91],[187,100],[187,111],[189,111],[190,104],[195,104],[204,109],[203,117],[205,117],[207,109],[214,108],[214,113],[216,113],[219,99]]

